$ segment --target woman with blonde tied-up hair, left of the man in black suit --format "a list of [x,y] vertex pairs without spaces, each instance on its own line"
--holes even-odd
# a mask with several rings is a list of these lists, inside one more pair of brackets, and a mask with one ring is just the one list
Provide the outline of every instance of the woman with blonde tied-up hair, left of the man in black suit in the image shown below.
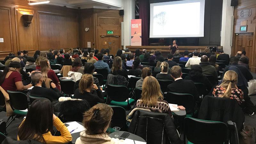
[[172,81],[174,81],[172,76],[170,74],[168,74],[169,65],[168,65],[168,63],[166,61],[161,63],[160,69],[161,69],[161,72],[159,74],[156,74],[156,79],[172,80]]

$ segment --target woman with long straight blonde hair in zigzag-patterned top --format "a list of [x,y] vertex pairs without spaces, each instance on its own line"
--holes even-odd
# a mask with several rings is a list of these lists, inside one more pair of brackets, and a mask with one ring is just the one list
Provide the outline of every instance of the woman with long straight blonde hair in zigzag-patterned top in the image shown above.
[[152,112],[167,113],[172,116],[169,104],[161,93],[160,85],[153,76],[147,76],[144,79],[141,99],[137,100],[136,108],[145,108]]

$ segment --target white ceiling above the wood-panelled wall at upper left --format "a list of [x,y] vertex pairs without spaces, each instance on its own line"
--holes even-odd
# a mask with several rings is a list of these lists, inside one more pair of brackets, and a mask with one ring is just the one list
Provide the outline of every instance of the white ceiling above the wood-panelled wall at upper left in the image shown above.
[[[31,0],[41,2],[46,0]],[[123,9],[123,0],[50,0],[50,5],[67,6],[69,8],[103,8]]]

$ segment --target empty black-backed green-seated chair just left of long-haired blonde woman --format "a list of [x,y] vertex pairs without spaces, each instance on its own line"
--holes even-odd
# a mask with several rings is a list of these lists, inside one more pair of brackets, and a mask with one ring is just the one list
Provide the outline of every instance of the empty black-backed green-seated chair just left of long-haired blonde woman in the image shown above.
[[126,109],[131,109],[131,105],[134,104],[135,102],[134,99],[128,100],[130,92],[126,86],[108,84],[107,92],[108,92],[107,101],[110,101],[111,105],[120,106]]

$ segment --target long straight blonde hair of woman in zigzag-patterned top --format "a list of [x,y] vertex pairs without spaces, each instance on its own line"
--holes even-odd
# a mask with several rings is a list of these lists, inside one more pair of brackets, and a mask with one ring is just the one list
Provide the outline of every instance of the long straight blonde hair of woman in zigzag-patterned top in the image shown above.
[[153,76],[147,76],[142,84],[141,102],[148,106],[155,106],[159,99],[163,100],[164,97],[158,81]]

